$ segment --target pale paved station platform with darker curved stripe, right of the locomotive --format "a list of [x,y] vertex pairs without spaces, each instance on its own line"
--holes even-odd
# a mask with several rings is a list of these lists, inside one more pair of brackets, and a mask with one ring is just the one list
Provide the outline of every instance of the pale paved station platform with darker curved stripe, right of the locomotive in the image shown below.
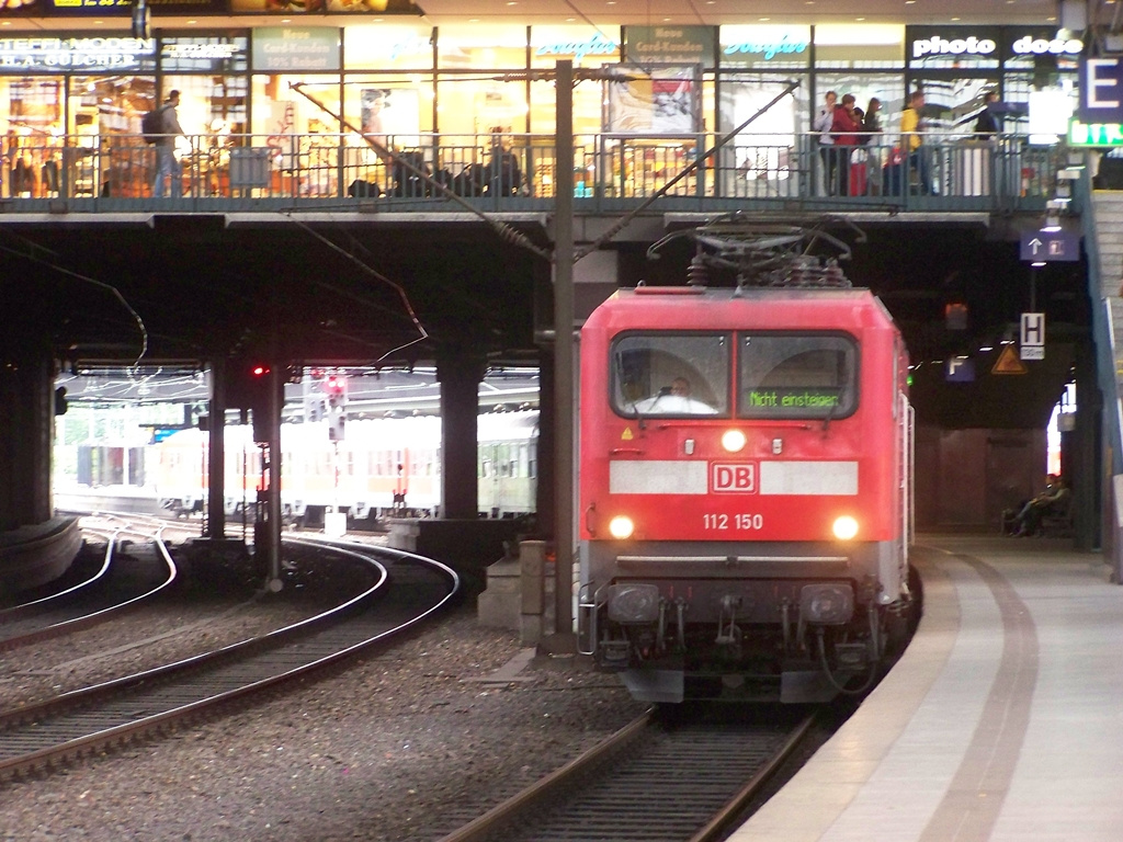
[[894,669],[736,842],[1123,839],[1123,587],[1067,540],[925,536]]

